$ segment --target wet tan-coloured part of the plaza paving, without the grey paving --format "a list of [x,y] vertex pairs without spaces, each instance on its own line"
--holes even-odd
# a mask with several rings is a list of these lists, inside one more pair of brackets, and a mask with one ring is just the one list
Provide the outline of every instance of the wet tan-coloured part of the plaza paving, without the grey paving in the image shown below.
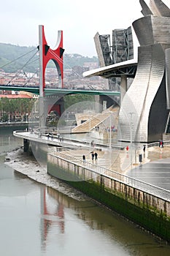
[[[97,151],[97,162],[94,160],[92,161],[90,153],[91,151]],[[164,148],[154,146],[147,148],[145,153],[143,153],[142,149],[140,149],[138,152],[131,152],[126,151],[125,149],[119,150],[117,148],[112,148],[112,150],[106,148],[105,150],[102,149],[101,151],[96,150],[95,148],[89,148],[88,150],[85,148],[80,148],[64,151],[64,153],[78,159],[82,159],[82,155],[85,154],[87,162],[93,162],[93,164],[125,174],[128,170],[134,169],[139,165],[144,165],[158,159],[170,158],[170,146],[164,146]],[[139,154],[142,154],[142,162],[139,162]]]

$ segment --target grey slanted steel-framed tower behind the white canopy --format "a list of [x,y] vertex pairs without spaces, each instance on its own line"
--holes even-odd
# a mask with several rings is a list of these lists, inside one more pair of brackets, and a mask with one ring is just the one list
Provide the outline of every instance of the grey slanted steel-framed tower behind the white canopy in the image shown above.
[[[131,26],[128,29],[115,29],[112,31],[112,42],[109,34],[94,37],[96,52],[100,67],[134,59],[134,43]],[[120,90],[120,78],[109,78],[109,89]]]

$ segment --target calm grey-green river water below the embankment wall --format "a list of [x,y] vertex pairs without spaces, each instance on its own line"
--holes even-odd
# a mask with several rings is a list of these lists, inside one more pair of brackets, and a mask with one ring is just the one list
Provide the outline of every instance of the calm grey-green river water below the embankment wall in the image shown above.
[[[0,133],[1,256],[170,255],[166,242],[61,181],[44,176],[42,184],[15,170],[18,162],[23,173],[39,168],[16,157],[13,150],[22,144],[12,132]],[[5,163],[12,154],[16,167]]]

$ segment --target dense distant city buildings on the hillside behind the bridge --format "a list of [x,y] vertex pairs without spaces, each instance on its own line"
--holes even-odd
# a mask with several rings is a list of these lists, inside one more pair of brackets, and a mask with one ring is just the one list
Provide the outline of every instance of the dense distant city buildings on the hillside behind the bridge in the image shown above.
[[[77,59],[81,56],[77,55]],[[82,73],[90,69],[96,69],[98,61],[86,61],[82,66],[77,65],[69,69],[64,69],[63,87],[68,89],[105,89],[107,80],[98,76],[93,78],[83,78]],[[5,73],[0,70],[0,84],[4,86],[39,86],[39,78],[36,74],[23,72]],[[58,88],[58,71],[54,68],[45,70],[45,86],[47,88]],[[1,91],[1,94],[13,94],[12,91]],[[20,94],[20,92],[18,92]]]

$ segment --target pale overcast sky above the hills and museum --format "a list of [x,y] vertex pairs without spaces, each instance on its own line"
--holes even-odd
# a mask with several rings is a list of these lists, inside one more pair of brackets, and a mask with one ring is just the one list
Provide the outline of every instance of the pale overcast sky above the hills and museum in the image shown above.
[[[165,0],[170,1],[170,0]],[[20,46],[39,44],[39,25],[54,48],[63,30],[65,53],[97,56],[93,37],[127,29],[141,18],[139,0],[4,0],[0,8],[0,42]]]

